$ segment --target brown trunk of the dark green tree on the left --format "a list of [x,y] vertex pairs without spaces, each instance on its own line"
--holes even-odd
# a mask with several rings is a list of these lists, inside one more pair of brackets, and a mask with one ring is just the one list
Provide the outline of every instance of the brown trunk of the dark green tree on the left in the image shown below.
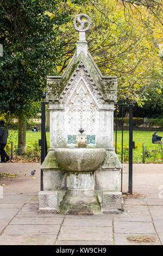
[[18,144],[17,154],[23,155],[26,153],[26,121],[23,117],[18,117]]

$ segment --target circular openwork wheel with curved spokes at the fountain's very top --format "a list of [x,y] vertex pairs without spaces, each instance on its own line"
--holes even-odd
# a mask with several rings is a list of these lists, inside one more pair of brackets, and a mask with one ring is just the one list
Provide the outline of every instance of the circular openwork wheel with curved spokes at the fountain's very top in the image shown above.
[[[83,20],[83,18],[85,19]],[[73,25],[76,31],[79,31],[79,32],[87,31],[91,28],[91,25],[92,25],[91,18],[86,14],[78,14],[74,19]],[[80,26],[78,27],[77,25],[80,25]]]

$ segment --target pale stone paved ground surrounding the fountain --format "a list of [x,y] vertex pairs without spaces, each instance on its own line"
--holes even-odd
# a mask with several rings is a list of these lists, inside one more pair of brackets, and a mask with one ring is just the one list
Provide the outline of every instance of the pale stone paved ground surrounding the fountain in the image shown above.
[[[124,197],[124,212],[118,215],[38,214],[35,186],[29,192],[24,181],[26,194],[21,194],[20,189],[17,192],[6,187],[0,198],[0,245],[162,245],[163,186],[161,191],[160,185],[163,185],[163,166],[159,166],[151,166],[152,172],[149,164],[139,166],[140,170],[135,167],[135,180],[140,180],[141,188],[137,183],[134,185],[134,195]],[[27,166],[25,168],[27,172]],[[31,166],[28,168],[30,170]],[[148,179],[152,174],[150,184]],[[125,171],[124,175],[127,175]],[[29,181],[29,175],[27,180],[29,187],[33,181]],[[39,181],[34,182],[39,192]],[[14,183],[10,184],[13,189]],[[145,189],[146,185],[151,186],[151,190]],[[148,237],[152,241],[135,243],[127,239],[131,236]]]

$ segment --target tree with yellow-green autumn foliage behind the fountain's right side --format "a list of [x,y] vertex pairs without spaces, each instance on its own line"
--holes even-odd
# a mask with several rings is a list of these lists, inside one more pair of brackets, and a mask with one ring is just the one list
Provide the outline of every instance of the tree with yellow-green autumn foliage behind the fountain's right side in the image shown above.
[[[161,13],[159,9],[157,18],[149,13],[147,1],[136,8],[130,3],[130,11],[124,9],[122,2],[89,0],[74,8],[74,15],[91,16],[92,28],[87,33],[89,51],[103,73],[118,77],[118,99],[143,105],[148,100],[148,87],[157,88],[162,76],[158,45],[152,38],[153,35],[155,41],[161,41]],[[149,33],[151,27],[153,32]],[[66,35],[65,50],[58,74],[64,71],[76,49],[78,33],[74,32],[72,22],[60,27],[61,38],[63,35]]]

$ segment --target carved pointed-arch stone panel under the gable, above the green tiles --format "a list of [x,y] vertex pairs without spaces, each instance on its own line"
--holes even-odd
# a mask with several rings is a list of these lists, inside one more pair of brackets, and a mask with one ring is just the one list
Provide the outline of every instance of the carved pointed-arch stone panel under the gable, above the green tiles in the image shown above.
[[[84,129],[84,134],[95,135],[98,129],[97,104],[102,103],[101,93],[93,88],[92,78],[82,65],[76,70],[68,83],[68,88],[60,97],[60,103],[65,105],[65,124],[68,135],[79,134],[79,129]],[[91,140],[94,144],[94,139]]]

